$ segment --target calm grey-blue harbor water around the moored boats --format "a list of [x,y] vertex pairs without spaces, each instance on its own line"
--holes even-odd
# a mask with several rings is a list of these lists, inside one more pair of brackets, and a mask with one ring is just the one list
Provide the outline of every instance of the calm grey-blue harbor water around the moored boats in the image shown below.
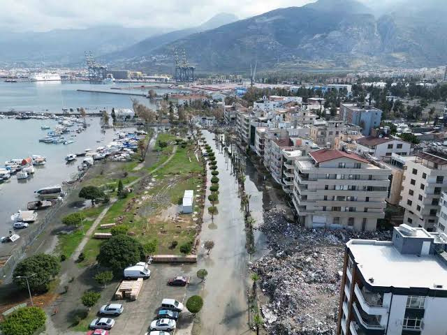
[[[137,84],[115,85],[129,87]],[[78,89],[110,90],[110,85],[66,82],[0,82],[0,113],[10,110],[33,111],[36,113],[60,113],[62,108],[84,107],[87,112],[106,109],[111,112],[112,107],[129,108],[132,106],[130,96],[119,94],[101,94],[80,92]],[[132,91],[132,90],[126,90]],[[135,90],[142,93],[141,90]],[[144,91],[147,93],[147,89]],[[168,90],[156,90],[157,94],[165,94]],[[135,96],[141,103],[155,107],[149,99]],[[0,119],[0,168],[4,162],[13,158],[25,158],[31,155],[41,155],[47,158],[43,166],[35,166],[35,173],[28,179],[17,179],[12,176],[8,181],[0,184],[0,236],[8,234],[13,222],[11,214],[19,209],[27,209],[27,202],[36,200],[38,188],[62,184],[71,179],[77,172],[80,160],[66,163],[64,158],[68,154],[76,154],[85,149],[96,149],[112,141],[115,132],[108,129],[101,133],[99,117],[87,117],[89,127],[80,134],[70,132],[64,134],[66,140],[73,143],[64,145],[45,144],[38,142],[45,137],[48,130],[41,130],[41,126],[54,128],[57,121],[53,119]],[[71,130],[74,130],[71,127]],[[75,134],[75,137],[71,137]],[[1,247],[1,246],[0,246]]]

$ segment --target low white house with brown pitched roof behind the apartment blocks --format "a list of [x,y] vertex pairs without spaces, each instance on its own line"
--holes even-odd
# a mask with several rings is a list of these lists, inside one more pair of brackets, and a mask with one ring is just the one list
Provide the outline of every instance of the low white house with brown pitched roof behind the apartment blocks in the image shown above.
[[411,151],[411,143],[395,137],[365,136],[357,139],[358,154],[369,154],[379,159],[391,156],[393,153],[407,156]]

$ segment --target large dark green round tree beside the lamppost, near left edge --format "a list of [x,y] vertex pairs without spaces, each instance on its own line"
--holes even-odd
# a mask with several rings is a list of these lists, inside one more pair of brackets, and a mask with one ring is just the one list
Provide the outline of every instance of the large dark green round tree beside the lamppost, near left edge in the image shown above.
[[14,269],[13,277],[14,282],[24,290],[27,290],[26,278],[16,277],[27,276],[30,290],[45,292],[49,288],[50,281],[59,274],[59,271],[61,271],[59,258],[38,253],[19,262]]

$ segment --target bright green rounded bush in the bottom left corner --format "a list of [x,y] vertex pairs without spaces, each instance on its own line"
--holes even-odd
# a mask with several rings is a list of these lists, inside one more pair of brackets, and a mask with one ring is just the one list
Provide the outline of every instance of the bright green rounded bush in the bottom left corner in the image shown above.
[[45,325],[47,316],[42,308],[22,307],[10,313],[1,322],[0,329],[4,335],[33,335]]

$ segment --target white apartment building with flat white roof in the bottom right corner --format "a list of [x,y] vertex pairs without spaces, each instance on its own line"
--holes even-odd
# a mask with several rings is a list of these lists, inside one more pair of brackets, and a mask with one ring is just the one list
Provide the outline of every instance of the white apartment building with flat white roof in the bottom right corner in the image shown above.
[[337,334],[445,335],[446,235],[400,225],[392,241],[351,239]]

